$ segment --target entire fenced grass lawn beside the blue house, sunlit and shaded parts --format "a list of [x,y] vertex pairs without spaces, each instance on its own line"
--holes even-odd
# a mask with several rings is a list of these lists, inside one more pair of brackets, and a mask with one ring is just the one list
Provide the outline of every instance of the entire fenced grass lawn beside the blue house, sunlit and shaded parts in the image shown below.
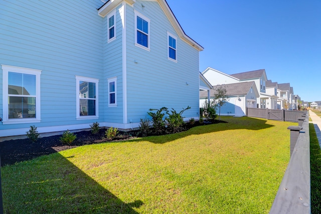
[[297,124],[221,120],[2,167],[5,213],[268,213]]

